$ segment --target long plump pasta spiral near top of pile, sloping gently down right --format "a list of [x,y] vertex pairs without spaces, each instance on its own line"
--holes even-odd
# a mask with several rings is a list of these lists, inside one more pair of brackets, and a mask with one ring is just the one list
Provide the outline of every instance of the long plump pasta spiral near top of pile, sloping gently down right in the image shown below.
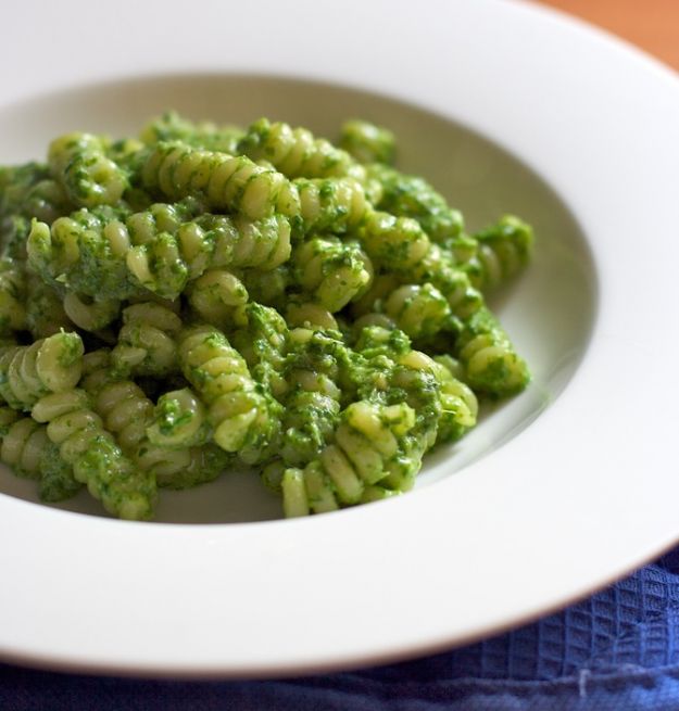
[[299,194],[277,170],[253,163],[246,155],[193,149],[179,142],[159,142],[141,169],[146,188],[171,200],[203,193],[208,206],[262,219],[274,213],[299,215]]

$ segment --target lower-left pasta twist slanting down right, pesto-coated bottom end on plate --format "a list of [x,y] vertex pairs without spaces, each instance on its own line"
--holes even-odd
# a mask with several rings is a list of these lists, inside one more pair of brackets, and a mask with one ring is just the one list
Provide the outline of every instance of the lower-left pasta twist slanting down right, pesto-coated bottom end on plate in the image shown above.
[[53,393],[33,407],[33,418],[46,422],[49,439],[61,458],[73,467],[76,481],[87,485],[106,511],[122,519],[151,518],[155,481],[123,455],[113,435],[103,429],[83,390]]

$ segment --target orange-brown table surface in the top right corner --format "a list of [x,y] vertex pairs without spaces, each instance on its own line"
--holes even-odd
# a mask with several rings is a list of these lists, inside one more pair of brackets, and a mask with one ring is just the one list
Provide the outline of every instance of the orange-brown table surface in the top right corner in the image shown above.
[[679,0],[541,0],[637,45],[679,69]]

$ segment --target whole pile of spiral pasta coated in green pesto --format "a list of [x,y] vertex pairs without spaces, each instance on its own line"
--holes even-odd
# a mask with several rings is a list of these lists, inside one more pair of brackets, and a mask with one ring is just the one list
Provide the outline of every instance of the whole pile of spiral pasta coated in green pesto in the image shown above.
[[529,381],[486,295],[533,237],[468,233],[394,154],[362,120],[331,143],[169,112],[1,168],[2,461],[135,520],[242,465],[288,517],[412,488]]

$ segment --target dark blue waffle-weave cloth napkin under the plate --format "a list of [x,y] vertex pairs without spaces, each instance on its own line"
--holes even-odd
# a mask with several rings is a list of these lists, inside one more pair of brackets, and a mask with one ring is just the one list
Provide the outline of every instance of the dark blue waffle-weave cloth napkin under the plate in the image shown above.
[[589,599],[445,653],[263,682],[0,665],[2,711],[679,711],[679,548]]

